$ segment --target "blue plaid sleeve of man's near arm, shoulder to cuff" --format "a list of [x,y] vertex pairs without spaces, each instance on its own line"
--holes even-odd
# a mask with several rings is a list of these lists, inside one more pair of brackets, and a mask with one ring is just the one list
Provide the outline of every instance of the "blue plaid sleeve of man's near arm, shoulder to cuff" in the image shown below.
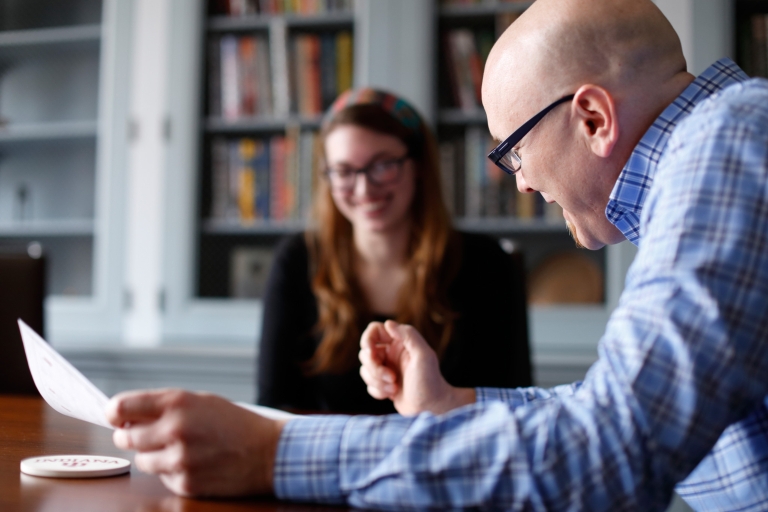
[[[278,496],[383,508],[665,508],[675,483],[767,391],[765,180],[742,157],[764,155],[764,134],[709,128],[662,162],[665,186],[648,199],[627,290],[571,396],[532,407],[518,403],[524,391],[500,392],[509,405],[465,396],[469,405],[442,416],[291,422]],[[728,172],[705,178],[702,162],[728,162]]]

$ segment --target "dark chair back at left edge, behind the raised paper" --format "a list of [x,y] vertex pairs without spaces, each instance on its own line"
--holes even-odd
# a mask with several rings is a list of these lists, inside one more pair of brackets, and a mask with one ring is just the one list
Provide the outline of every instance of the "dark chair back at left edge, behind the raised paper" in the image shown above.
[[0,393],[38,395],[17,319],[43,334],[45,258],[0,252]]

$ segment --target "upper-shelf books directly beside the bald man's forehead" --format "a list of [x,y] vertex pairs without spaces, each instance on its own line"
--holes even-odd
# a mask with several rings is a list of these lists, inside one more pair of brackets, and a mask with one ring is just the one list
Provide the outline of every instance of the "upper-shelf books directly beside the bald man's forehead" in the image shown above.
[[456,28],[443,32],[442,54],[452,107],[465,111],[480,108],[485,61],[498,36],[519,16],[519,13],[499,14],[495,28]]

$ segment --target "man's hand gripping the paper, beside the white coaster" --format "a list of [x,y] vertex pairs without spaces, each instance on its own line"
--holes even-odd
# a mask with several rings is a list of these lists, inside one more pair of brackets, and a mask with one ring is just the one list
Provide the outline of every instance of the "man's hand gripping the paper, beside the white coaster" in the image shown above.
[[284,421],[203,393],[130,391],[106,415],[118,448],[136,450],[136,467],[181,496],[273,492],[272,470]]

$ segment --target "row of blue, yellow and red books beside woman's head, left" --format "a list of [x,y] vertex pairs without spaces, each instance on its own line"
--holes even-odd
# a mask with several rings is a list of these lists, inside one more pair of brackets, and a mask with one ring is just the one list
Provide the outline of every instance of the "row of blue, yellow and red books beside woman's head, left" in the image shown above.
[[319,171],[318,140],[298,128],[269,138],[213,138],[211,219],[244,226],[304,219]]

